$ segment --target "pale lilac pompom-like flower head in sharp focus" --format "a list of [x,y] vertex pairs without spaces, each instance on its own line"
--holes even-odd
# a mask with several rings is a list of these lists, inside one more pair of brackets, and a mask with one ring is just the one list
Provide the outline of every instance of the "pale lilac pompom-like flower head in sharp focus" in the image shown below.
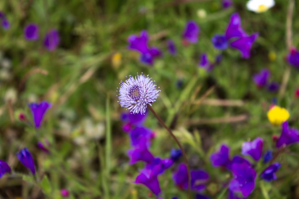
[[[155,81],[149,78],[149,75],[135,76],[131,75],[126,79],[125,82],[120,82],[120,88],[118,88],[118,99],[121,107],[127,108],[131,113],[144,114],[147,105],[156,101],[155,99],[159,96],[161,90],[156,89]],[[158,87],[159,88],[159,87]]]

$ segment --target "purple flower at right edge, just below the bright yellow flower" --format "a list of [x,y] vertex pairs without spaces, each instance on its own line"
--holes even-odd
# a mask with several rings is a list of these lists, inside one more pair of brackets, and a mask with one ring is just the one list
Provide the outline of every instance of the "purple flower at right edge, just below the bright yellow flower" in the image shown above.
[[283,144],[293,144],[299,142],[298,130],[295,128],[289,128],[288,122],[282,123],[282,132],[276,142],[276,147],[279,148]]

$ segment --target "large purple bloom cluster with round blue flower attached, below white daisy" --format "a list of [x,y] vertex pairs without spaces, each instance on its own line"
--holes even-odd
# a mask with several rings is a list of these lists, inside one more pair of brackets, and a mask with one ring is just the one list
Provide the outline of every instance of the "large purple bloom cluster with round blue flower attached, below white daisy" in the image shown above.
[[257,36],[258,33],[248,36],[241,27],[241,18],[239,14],[233,13],[225,34],[216,34],[212,38],[212,42],[214,47],[219,50],[224,50],[226,47],[230,46],[237,48],[240,51],[242,58],[249,58],[251,45]]

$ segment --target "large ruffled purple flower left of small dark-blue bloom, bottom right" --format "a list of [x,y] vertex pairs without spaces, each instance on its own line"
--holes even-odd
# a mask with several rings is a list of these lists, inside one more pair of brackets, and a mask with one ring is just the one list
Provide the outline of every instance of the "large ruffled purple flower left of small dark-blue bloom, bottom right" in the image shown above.
[[246,163],[234,163],[232,165],[233,179],[229,184],[229,189],[233,192],[241,192],[247,197],[254,189],[256,172]]

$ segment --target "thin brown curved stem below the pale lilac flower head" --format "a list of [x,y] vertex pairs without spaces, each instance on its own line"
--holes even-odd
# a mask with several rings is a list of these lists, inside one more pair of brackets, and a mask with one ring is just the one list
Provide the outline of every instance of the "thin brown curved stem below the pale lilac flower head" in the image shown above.
[[170,133],[171,137],[173,137],[173,139],[176,141],[176,143],[178,144],[179,148],[182,151],[184,162],[186,163],[186,166],[187,166],[187,172],[188,172],[188,198],[190,199],[191,173],[190,173],[190,167],[189,167],[189,164],[188,164],[186,153],[185,153],[181,143],[179,142],[178,138],[176,138],[176,136],[173,134],[171,129],[166,126],[166,124],[163,122],[163,120],[157,115],[157,113],[154,111],[154,109],[152,109],[152,107],[149,104],[147,105],[147,107],[155,115],[155,117],[162,124],[162,126]]

